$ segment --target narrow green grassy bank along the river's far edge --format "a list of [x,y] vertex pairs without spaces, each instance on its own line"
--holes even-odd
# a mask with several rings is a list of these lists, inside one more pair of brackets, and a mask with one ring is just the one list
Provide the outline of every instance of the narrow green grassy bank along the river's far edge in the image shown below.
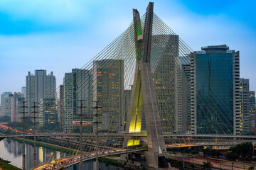
[[[18,138],[18,137],[11,138],[11,140],[15,140],[17,142],[23,142],[23,139]],[[33,140],[25,139],[25,143],[28,144],[28,145],[32,145],[33,146]],[[53,150],[59,151],[59,152],[65,152],[66,154],[79,154],[77,152],[77,150],[75,150],[75,149],[61,147],[59,145],[54,145],[54,144],[50,144],[50,143],[46,143],[46,142],[38,142],[38,141],[36,141],[36,146],[37,147],[45,147],[47,149],[53,149]]]

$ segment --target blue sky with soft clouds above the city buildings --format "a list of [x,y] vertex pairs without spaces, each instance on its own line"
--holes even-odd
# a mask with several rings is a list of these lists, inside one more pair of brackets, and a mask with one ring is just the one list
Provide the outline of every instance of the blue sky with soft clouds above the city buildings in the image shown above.
[[[28,71],[80,68],[141,15],[149,1],[0,0],[0,93],[21,91]],[[193,50],[240,51],[240,77],[256,90],[256,1],[154,1],[154,12]]]

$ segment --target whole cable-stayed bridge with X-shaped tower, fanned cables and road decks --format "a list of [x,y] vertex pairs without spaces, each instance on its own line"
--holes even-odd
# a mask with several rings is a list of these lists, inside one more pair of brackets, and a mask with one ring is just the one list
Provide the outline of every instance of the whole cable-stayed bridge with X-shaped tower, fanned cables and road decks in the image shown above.
[[[50,112],[55,103],[46,103],[37,137],[62,137],[64,147],[72,141],[80,161],[111,151],[122,154],[122,159],[133,153],[132,157],[144,155],[152,169],[163,164],[167,148],[178,147],[176,143],[183,147],[255,141],[255,136],[242,133],[235,79],[230,84],[222,72],[196,56],[153,8],[149,3],[143,16],[133,9],[132,23],[124,33],[84,67],[65,74],[63,86],[51,95],[60,100],[61,133],[40,132],[55,114]],[[228,62],[233,63],[233,58]],[[201,69],[208,69],[208,74]],[[227,72],[239,76],[231,67]],[[212,77],[215,81],[209,81]],[[210,87],[213,90],[206,91]]]

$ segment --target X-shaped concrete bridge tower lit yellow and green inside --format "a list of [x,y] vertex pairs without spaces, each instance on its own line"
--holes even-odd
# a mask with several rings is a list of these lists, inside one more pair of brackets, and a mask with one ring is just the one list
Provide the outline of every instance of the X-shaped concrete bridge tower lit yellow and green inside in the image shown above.
[[[141,132],[142,112],[144,112],[147,137],[126,137],[124,147],[139,145],[142,141],[146,142],[148,151],[143,152],[146,157],[146,164],[149,167],[158,168],[159,160],[166,155],[166,146],[162,135],[159,107],[150,66],[153,3],[150,2],[146,8],[144,24],[140,21],[137,9],[133,10],[133,15],[137,61],[126,131],[129,133]],[[142,26],[144,26],[144,33]]]

